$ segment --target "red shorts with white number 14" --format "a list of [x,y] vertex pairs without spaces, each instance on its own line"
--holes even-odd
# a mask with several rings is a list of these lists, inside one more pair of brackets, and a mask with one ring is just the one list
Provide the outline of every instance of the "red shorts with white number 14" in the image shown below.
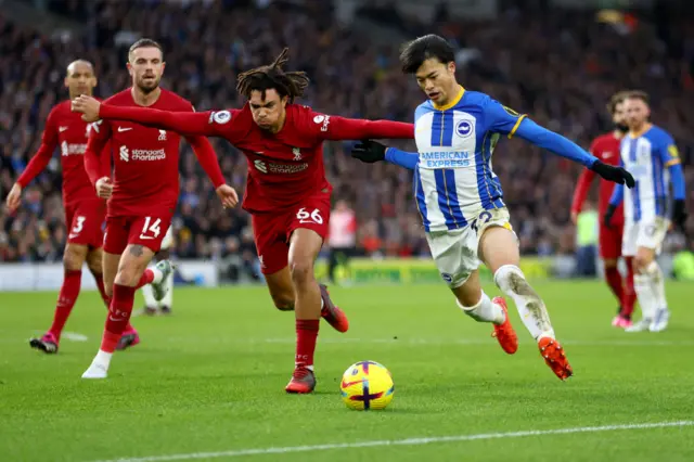
[[106,217],[104,252],[120,255],[129,244],[137,244],[157,253],[170,224],[170,214]]

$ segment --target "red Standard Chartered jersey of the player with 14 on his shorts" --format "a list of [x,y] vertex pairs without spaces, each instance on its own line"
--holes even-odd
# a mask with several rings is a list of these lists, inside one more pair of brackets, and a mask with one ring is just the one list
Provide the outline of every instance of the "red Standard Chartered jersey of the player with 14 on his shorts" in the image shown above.
[[[131,89],[104,103],[137,106]],[[164,89],[149,107],[193,112],[189,101]],[[108,141],[113,150],[114,190],[108,200],[108,216],[146,216],[163,210],[174,214],[179,194],[180,134],[121,120],[100,120],[92,127],[90,150],[99,152]]]

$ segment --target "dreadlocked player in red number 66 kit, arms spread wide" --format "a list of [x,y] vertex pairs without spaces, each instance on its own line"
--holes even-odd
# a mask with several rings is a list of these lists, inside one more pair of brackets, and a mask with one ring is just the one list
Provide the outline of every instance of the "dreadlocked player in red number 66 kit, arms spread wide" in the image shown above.
[[[116,107],[80,99],[88,120],[131,120],[182,134],[221,137],[248,162],[243,208],[250,213],[258,257],[270,295],[280,310],[294,310],[296,357],[287,393],[316,387],[313,352],[321,316],[337,331],[348,321],[313,275],[327,233],[332,185],[323,166],[324,140],[412,138],[411,124],[360,120],[319,114],[294,104],[309,79],[284,72],[285,49],[267,66],[239,76],[236,89],[248,102],[242,110],[206,113]],[[113,124],[113,121],[112,121]]]

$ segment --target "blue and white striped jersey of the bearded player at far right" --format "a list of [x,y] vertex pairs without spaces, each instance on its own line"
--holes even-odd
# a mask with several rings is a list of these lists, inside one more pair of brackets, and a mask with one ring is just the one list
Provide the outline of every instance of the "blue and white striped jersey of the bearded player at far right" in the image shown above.
[[633,189],[624,191],[625,218],[637,222],[666,217],[671,198],[668,167],[680,163],[672,137],[652,126],[639,137],[627,134],[620,150],[621,163],[637,183]]

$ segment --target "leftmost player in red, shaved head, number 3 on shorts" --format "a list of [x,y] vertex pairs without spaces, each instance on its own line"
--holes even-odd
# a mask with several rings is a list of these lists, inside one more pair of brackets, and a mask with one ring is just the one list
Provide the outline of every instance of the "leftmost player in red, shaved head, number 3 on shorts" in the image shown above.
[[[68,89],[70,100],[80,94],[91,95],[95,86],[97,76],[90,62],[77,60],[67,66],[65,87]],[[65,226],[68,228],[67,243],[63,254],[65,273],[51,328],[40,338],[29,341],[31,348],[47,354],[57,352],[63,328],[79,296],[85,262],[97,281],[104,304],[106,307],[110,305],[101,265],[102,226],[106,217],[106,203],[97,197],[85,171],[83,154],[89,127],[79,114],[70,112],[69,105],[69,101],[64,101],[51,110],[41,137],[41,146],[8,195],[8,207],[10,211],[14,211],[22,200],[22,191],[43,171],[53,152],[60,145],[63,205]],[[110,146],[106,146],[106,150],[110,150]],[[103,168],[103,175],[108,175],[110,164],[104,164]],[[126,325],[125,332],[127,337],[119,343],[119,349],[139,343],[138,332],[130,324]]]

